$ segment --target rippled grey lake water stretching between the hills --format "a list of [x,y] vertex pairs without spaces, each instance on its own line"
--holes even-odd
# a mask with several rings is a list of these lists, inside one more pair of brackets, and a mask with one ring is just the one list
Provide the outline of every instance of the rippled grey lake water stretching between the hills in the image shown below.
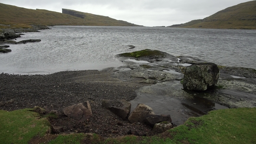
[[[123,65],[116,54],[156,49],[174,56],[192,56],[217,65],[256,69],[256,30],[167,27],[53,26],[24,33],[0,53],[0,72],[49,74],[66,70],[104,69]],[[135,46],[129,49],[128,45]]]

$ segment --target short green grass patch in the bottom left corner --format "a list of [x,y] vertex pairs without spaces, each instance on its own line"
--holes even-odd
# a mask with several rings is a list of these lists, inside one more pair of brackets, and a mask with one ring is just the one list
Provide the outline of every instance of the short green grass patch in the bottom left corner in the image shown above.
[[43,137],[50,131],[49,121],[32,110],[0,110],[0,143],[27,144],[33,137]]

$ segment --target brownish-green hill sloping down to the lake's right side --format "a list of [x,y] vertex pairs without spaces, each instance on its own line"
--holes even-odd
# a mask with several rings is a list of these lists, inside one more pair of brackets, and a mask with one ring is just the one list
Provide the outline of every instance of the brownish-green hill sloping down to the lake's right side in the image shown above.
[[203,20],[192,20],[168,27],[256,29],[256,0],[228,7]]

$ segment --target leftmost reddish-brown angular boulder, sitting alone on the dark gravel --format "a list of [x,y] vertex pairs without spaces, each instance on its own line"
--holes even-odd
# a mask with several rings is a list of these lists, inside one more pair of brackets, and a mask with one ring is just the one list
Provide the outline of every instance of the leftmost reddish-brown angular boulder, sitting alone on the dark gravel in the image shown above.
[[86,103],[71,105],[69,107],[63,108],[62,111],[69,118],[76,119],[80,122],[92,117],[92,109],[89,101],[86,101]]

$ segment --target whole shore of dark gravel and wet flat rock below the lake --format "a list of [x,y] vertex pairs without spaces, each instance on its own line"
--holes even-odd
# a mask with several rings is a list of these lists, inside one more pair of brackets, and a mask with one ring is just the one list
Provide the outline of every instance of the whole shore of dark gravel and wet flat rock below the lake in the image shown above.
[[[39,106],[46,111],[57,111],[58,118],[49,121],[53,126],[62,127],[64,133],[85,132],[117,137],[151,134],[152,127],[123,120],[102,107],[104,99],[130,101],[131,111],[143,103],[151,107],[155,115],[171,115],[174,125],[216,109],[256,107],[255,69],[218,66],[218,84],[197,92],[184,90],[182,79],[186,65],[202,60],[187,56],[138,60],[122,57],[121,60],[127,66],[102,71],[0,74],[0,109],[12,111]],[[92,117],[88,120],[78,122],[61,112],[62,108],[86,101],[92,109]]]

